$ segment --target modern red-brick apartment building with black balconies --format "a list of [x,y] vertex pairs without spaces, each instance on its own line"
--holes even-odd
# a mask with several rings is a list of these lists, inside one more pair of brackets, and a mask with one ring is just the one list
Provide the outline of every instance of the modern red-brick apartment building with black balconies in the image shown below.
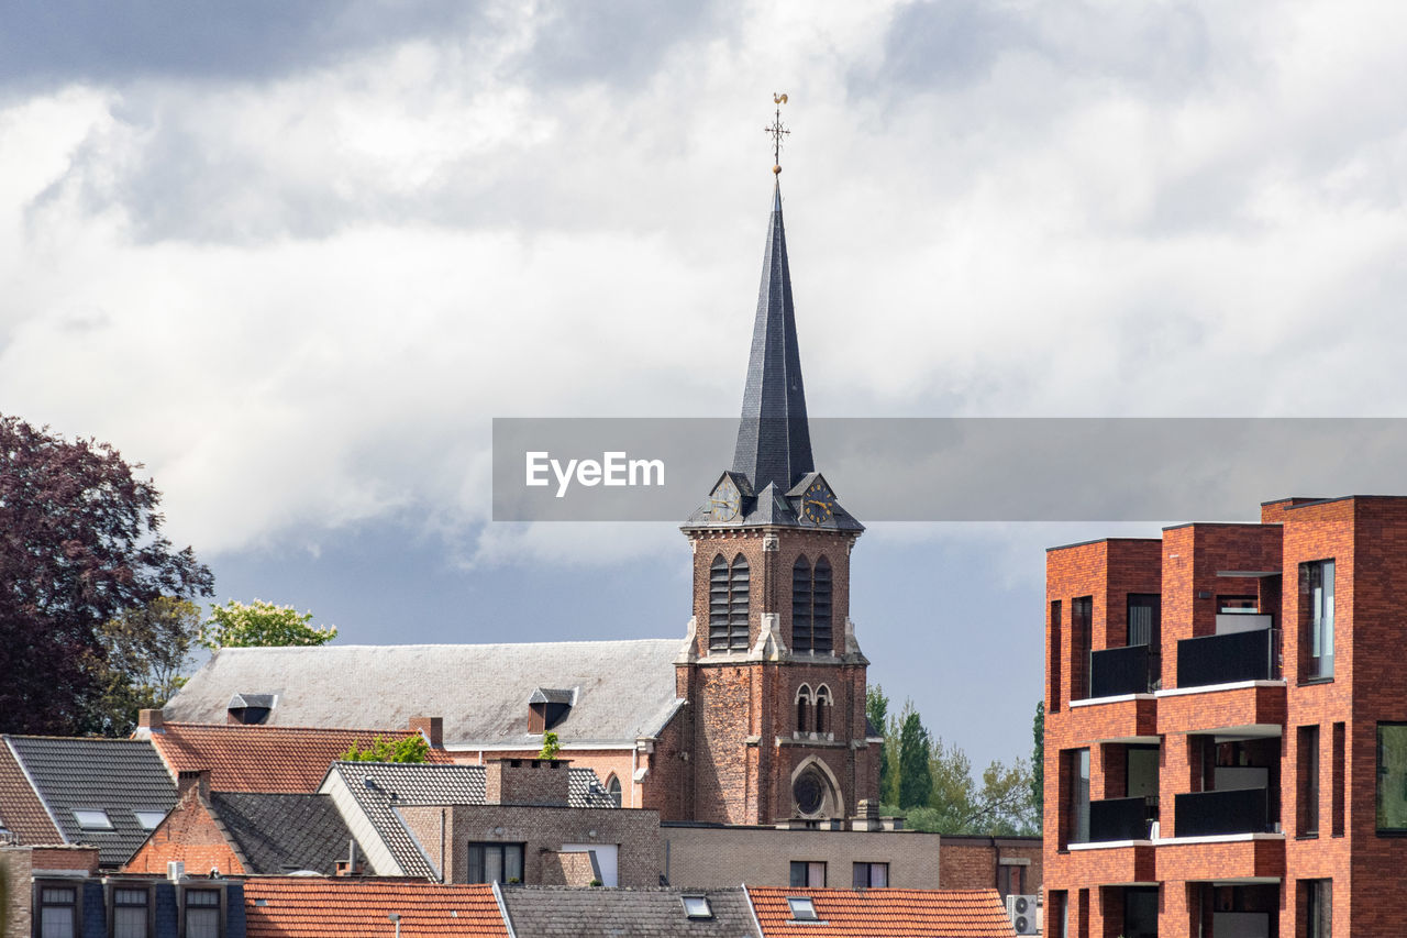
[[1045,921],[1400,934],[1407,497],[1051,548]]

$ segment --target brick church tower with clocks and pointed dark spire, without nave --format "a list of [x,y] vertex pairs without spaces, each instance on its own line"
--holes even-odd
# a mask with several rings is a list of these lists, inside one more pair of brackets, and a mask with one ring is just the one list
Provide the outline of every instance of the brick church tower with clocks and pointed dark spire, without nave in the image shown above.
[[682,531],[694,617],[675,662],[692,751],[681,813],[825,827],[878,806],[868,661],[848,615],[864,525],[812,459],[779,185],[733,466]]

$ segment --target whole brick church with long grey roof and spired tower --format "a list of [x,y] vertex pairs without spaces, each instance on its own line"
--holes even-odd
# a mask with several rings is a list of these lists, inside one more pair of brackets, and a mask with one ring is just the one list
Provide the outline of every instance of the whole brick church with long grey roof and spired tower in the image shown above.
[[[878,732],[850,621],[864,531],[816,469],[779,186],[732,466],[682,525],[692,618],[675,639],[228,648],[148,732],[191,724],[405,727],[457,762],[592,769],[666,821],[878,828]],[[257,706],[250,706],[256,701]]]

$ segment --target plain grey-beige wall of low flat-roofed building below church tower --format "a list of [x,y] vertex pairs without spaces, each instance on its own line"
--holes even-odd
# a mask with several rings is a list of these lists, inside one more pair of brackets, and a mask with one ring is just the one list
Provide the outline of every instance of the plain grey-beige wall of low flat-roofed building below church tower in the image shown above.
[[826,863],[826,884],[833,887],[850,887],[857,862],[889,863],[889,884],[896,889],[947,887],[937,834],[666,825],[660,837],[674,886],[789,886],[791,862],[815,861]]

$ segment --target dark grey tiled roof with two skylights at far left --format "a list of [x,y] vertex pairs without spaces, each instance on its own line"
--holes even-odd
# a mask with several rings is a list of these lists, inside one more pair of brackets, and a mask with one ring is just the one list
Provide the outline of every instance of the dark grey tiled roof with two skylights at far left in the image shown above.
[[[125,863],[146,839],[149,831],[134,811],[165,814],[176,804],[176,786],[146,739],[6,739],[58,821],[65,842],[97,846],[103,866]],[[77,810],[104,811],[113,830],[82,830],[73,815]]]

